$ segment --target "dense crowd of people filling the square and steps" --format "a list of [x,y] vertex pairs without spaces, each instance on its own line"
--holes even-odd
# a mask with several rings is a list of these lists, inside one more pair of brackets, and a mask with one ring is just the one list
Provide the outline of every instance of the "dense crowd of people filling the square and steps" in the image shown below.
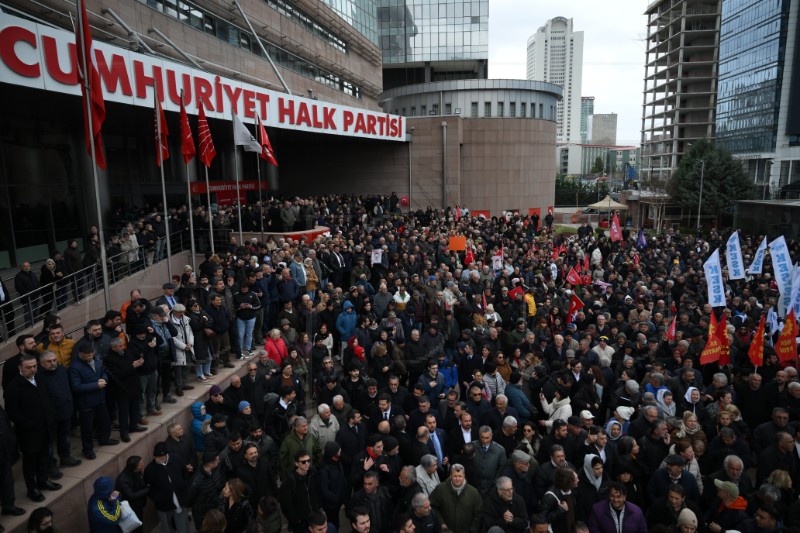
[[[556,233],[552,217],[401,213],[392,197],[272,203],[330,232],[231,237],[81,339],[57,319],[19,337],[0,436],[20,442],[30,499],[79,461],[73,425],[94,459],[112,428],[130,440],[238,359],[245,374],[211,385],[191,427],[171,424],[152,458],[96,486],[92,531],[117,530],[119,500],[180,533],[800,529],[796,360],[778,361],[778,331],[762,365],[748,357],[776,306],[768,259],[726,280],[725,307],[706,303],[703,262],[725,232],[612,242]],[[764,237],[741,237],[749,264]],[[723,366],[700,364],[712,314],[728,324]]]

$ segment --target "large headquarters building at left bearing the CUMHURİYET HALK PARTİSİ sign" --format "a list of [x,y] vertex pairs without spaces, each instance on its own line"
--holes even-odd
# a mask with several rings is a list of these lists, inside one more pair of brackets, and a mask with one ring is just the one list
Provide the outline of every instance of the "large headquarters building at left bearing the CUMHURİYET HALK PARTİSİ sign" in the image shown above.
[[[309,146],[335,145],[351,167],[378,144],[407,153],[405,120],[387,117],[377,103],[381,50],[376,13],[359,11],[366,0],[330,2],[351,13],[352,24],[322,0],[239,3],[256,34],[238,10],[212,0],[86,2],[106,101],[102,137],[108,166],[99,173],[97,187],[101,213],[69,52],[75,6],[58,0],[9,0],[0,6],[0,24],[7,30],[3,38],[13,40],[0,54],[0,94],[16,103],[0,114],[0,268],[63,251],[69,239],[82,241],[99,216],[108,220],[118,208],[158,209],[156,88],[172,132],[172,157],[164,165],[171,207],[188,203],[187,176],[192,182],[204,177],[201,164],[194,160],[187,166],[180,157],[181,90],[193,128],[198,102],[206,104],[217,150],[211,181],[230,183],[238,176],[252,182],[260,170],[272,194],[283,194],[295,183],[305,184],[306,194],[340,192],[346,190],[341,184],[349,169],[339,168],[335,175],[328,170],[328,179],[313,180],[305,166]],[[233,148],[234,110],[251,128],[256,114],[263,118],[279,168]],[[398,136],[389,139],[385,127],[396,120]],[[359,192],[378,193],[389,186],[362,182]],[[206,204],[205,195],[194,201]]]

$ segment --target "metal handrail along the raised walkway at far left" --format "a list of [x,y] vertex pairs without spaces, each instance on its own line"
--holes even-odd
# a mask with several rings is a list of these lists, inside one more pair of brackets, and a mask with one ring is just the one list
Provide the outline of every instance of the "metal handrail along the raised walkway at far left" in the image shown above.
[[[183,233],[183,231],[170,233],[171,240],[173,242],[177,241],[177,246],[173,249],[173,255],[174,253],[182,252],[186,249]],[[156,242],[158,241],[166,241],[166,237],[159,237]],[[130,262],[123,264],[118,262],[123,256],[129,255],[131,253],[130,250],[107,257],[110,267],[109,277],[111,279],[107,280],[105,285],[110,287],[136,272],[145,270],[164,259],[168,259],[166,251],[164,250],[164,256],[162,258],[157,259],[153,257],[152,261],[148,262],[147,254],[149,253],[149,248],[150,247],[147,247],[147,249],[145,249],[145,247],[142,246],[137,248],[138,259],[135,269],[131,268],[132,263]],[[153,253],[155,253],[155,250],[158,248],[158,245],[154,245]],[[30,293],[17,295],[12,300],[0,305],[0,336],[8,340],[16,332],[26,327],[34,326],[46,313],[51,312],[54,306],[56,310],[61,310],[66,308],[70,303],[79,303],[87,296],[103,290],[105,288],[104,283],[102,280],[98,279],[98,277],[101,276],[99,267],[99,263],[89,265],[64,276],[60,280],[38,287]],[[13,280],[13,277],[9,278],[9,280]],[[11,292],[11,290],[9,290],[9,292]],[[14,289],[14,294],[16,294],[16,289]],[[49,305],[48,309],[44,308],[46,305]],[[18,327],[20,319],[22,325]]]

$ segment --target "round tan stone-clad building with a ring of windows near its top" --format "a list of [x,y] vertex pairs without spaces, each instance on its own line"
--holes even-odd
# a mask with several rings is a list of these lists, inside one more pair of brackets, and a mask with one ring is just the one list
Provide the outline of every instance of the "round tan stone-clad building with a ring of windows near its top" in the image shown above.
[[404,165],[383,172],[408,179],[412,208],[544,210],[555,190],[560,97],[561,87],[527,80],[456,80],[386,91],[383,109],[408,117],[412,140],[408,174]]

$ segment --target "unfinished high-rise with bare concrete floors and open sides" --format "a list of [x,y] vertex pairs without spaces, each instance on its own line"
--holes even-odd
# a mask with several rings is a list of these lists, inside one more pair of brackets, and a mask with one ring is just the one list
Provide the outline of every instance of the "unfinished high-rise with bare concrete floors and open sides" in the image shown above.
[[722,0],[656,0],[645,12],[641,167],[663,180],[688,145],[713,139]]

